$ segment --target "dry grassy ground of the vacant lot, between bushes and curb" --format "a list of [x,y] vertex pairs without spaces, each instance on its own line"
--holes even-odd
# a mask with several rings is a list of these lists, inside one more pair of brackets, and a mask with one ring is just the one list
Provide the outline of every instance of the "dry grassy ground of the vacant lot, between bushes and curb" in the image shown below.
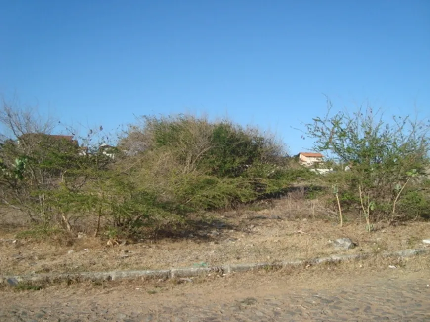
[[[298,211],[295,215],[290,201],[280,200],[269,209],[208,215],[208,226],[185,238],[137,244],[107,245],[106,240],[84,235],[66,247],[52,240],[16,239],[14,233],[1,233],[0,276],[271,263],[338,253],[422,248],[422,240],[430,237],[429,222],[377,225],[369,234],[364,218],[346,220],[342,228],[335,218],[323,220]],[[358,246],[344,250],[329,242],[343,237]]]

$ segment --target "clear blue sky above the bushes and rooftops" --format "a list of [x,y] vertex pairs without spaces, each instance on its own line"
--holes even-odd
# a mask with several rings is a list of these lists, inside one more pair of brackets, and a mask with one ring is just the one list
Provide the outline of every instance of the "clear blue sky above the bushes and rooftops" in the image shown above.
[[300,121],[370,100],[430,113],[430,0],[0,0],[0,93],[64,122]]

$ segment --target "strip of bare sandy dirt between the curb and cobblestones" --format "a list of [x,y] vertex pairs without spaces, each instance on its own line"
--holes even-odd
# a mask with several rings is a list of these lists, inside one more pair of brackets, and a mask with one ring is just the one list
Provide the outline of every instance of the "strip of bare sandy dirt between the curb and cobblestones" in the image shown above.
[[[389,268],[395,265],[396,269]],[[85,282],[78,284],[54,284],[18,290],[0,288],[0,297],[7,296],[8,303],[28,303],[37,306],[58,301],[100,301],[112,306],[128,298],[130,306],[136,299],[144,299],[145,307],[160,305],[205,305],[205,303],[231,303],[252,294],[256,298],[276,297],[286,292],[301,294],[306,290],[318,292],[323,289],[347,289],[354,285],[366,285],[372,281],[387,279],[427,279],[430,255],[410,258],[383,258],[379,255],[367,260],[351,260],[337,264],[311,266],[302,270],[281,269],[279,271],[252,271],[227,274],[224,277],[201,276],[183,280],[120,280],[111,282]],[[24,290],[24,291],[22,291]],[[169,303],[169,304],[167,304]]]

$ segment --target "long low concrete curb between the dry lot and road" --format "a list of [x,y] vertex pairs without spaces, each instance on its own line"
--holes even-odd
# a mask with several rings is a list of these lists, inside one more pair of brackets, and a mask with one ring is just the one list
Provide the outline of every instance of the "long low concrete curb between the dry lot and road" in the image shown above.
[[[411,257],[414,255],[430,252],[430,249],[408,249],[394,252],[383,252],[383,257]],[[192,267],[177,268],[170,270],[134,270],[134,271],[112,271],[112,272],[83,272],[64,274],[29,274],[0,277],[0,284],[17,284],[28,282],[58,283],[64,281],[111,281],[135,278],[188,278],[202,274],[247,272],[260,269],[280,269],[286,267],[298,267],[303,265],[318,265],[327,262],[340,262],[351,259],[365,259],[373,253],[354,255],[332,255],[329,257],[313,258],[310,260],[283,261],[278,263],[255,263],[255,264],[231,264],[217,267]]]

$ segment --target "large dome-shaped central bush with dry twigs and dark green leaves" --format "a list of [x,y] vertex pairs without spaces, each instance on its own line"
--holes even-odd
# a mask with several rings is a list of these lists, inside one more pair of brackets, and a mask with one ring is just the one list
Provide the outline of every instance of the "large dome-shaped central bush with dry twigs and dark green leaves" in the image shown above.
[[144,117],[143,125],[131,126],[120,144],[130,146],[131,140],[147,147],[127,161],[139,160],[133,167],[135,186],[162,196],[158,200],[175,205],[175,212],[252,201],[280,191],[298,175],[287,166],[282,144],[228,121]]

